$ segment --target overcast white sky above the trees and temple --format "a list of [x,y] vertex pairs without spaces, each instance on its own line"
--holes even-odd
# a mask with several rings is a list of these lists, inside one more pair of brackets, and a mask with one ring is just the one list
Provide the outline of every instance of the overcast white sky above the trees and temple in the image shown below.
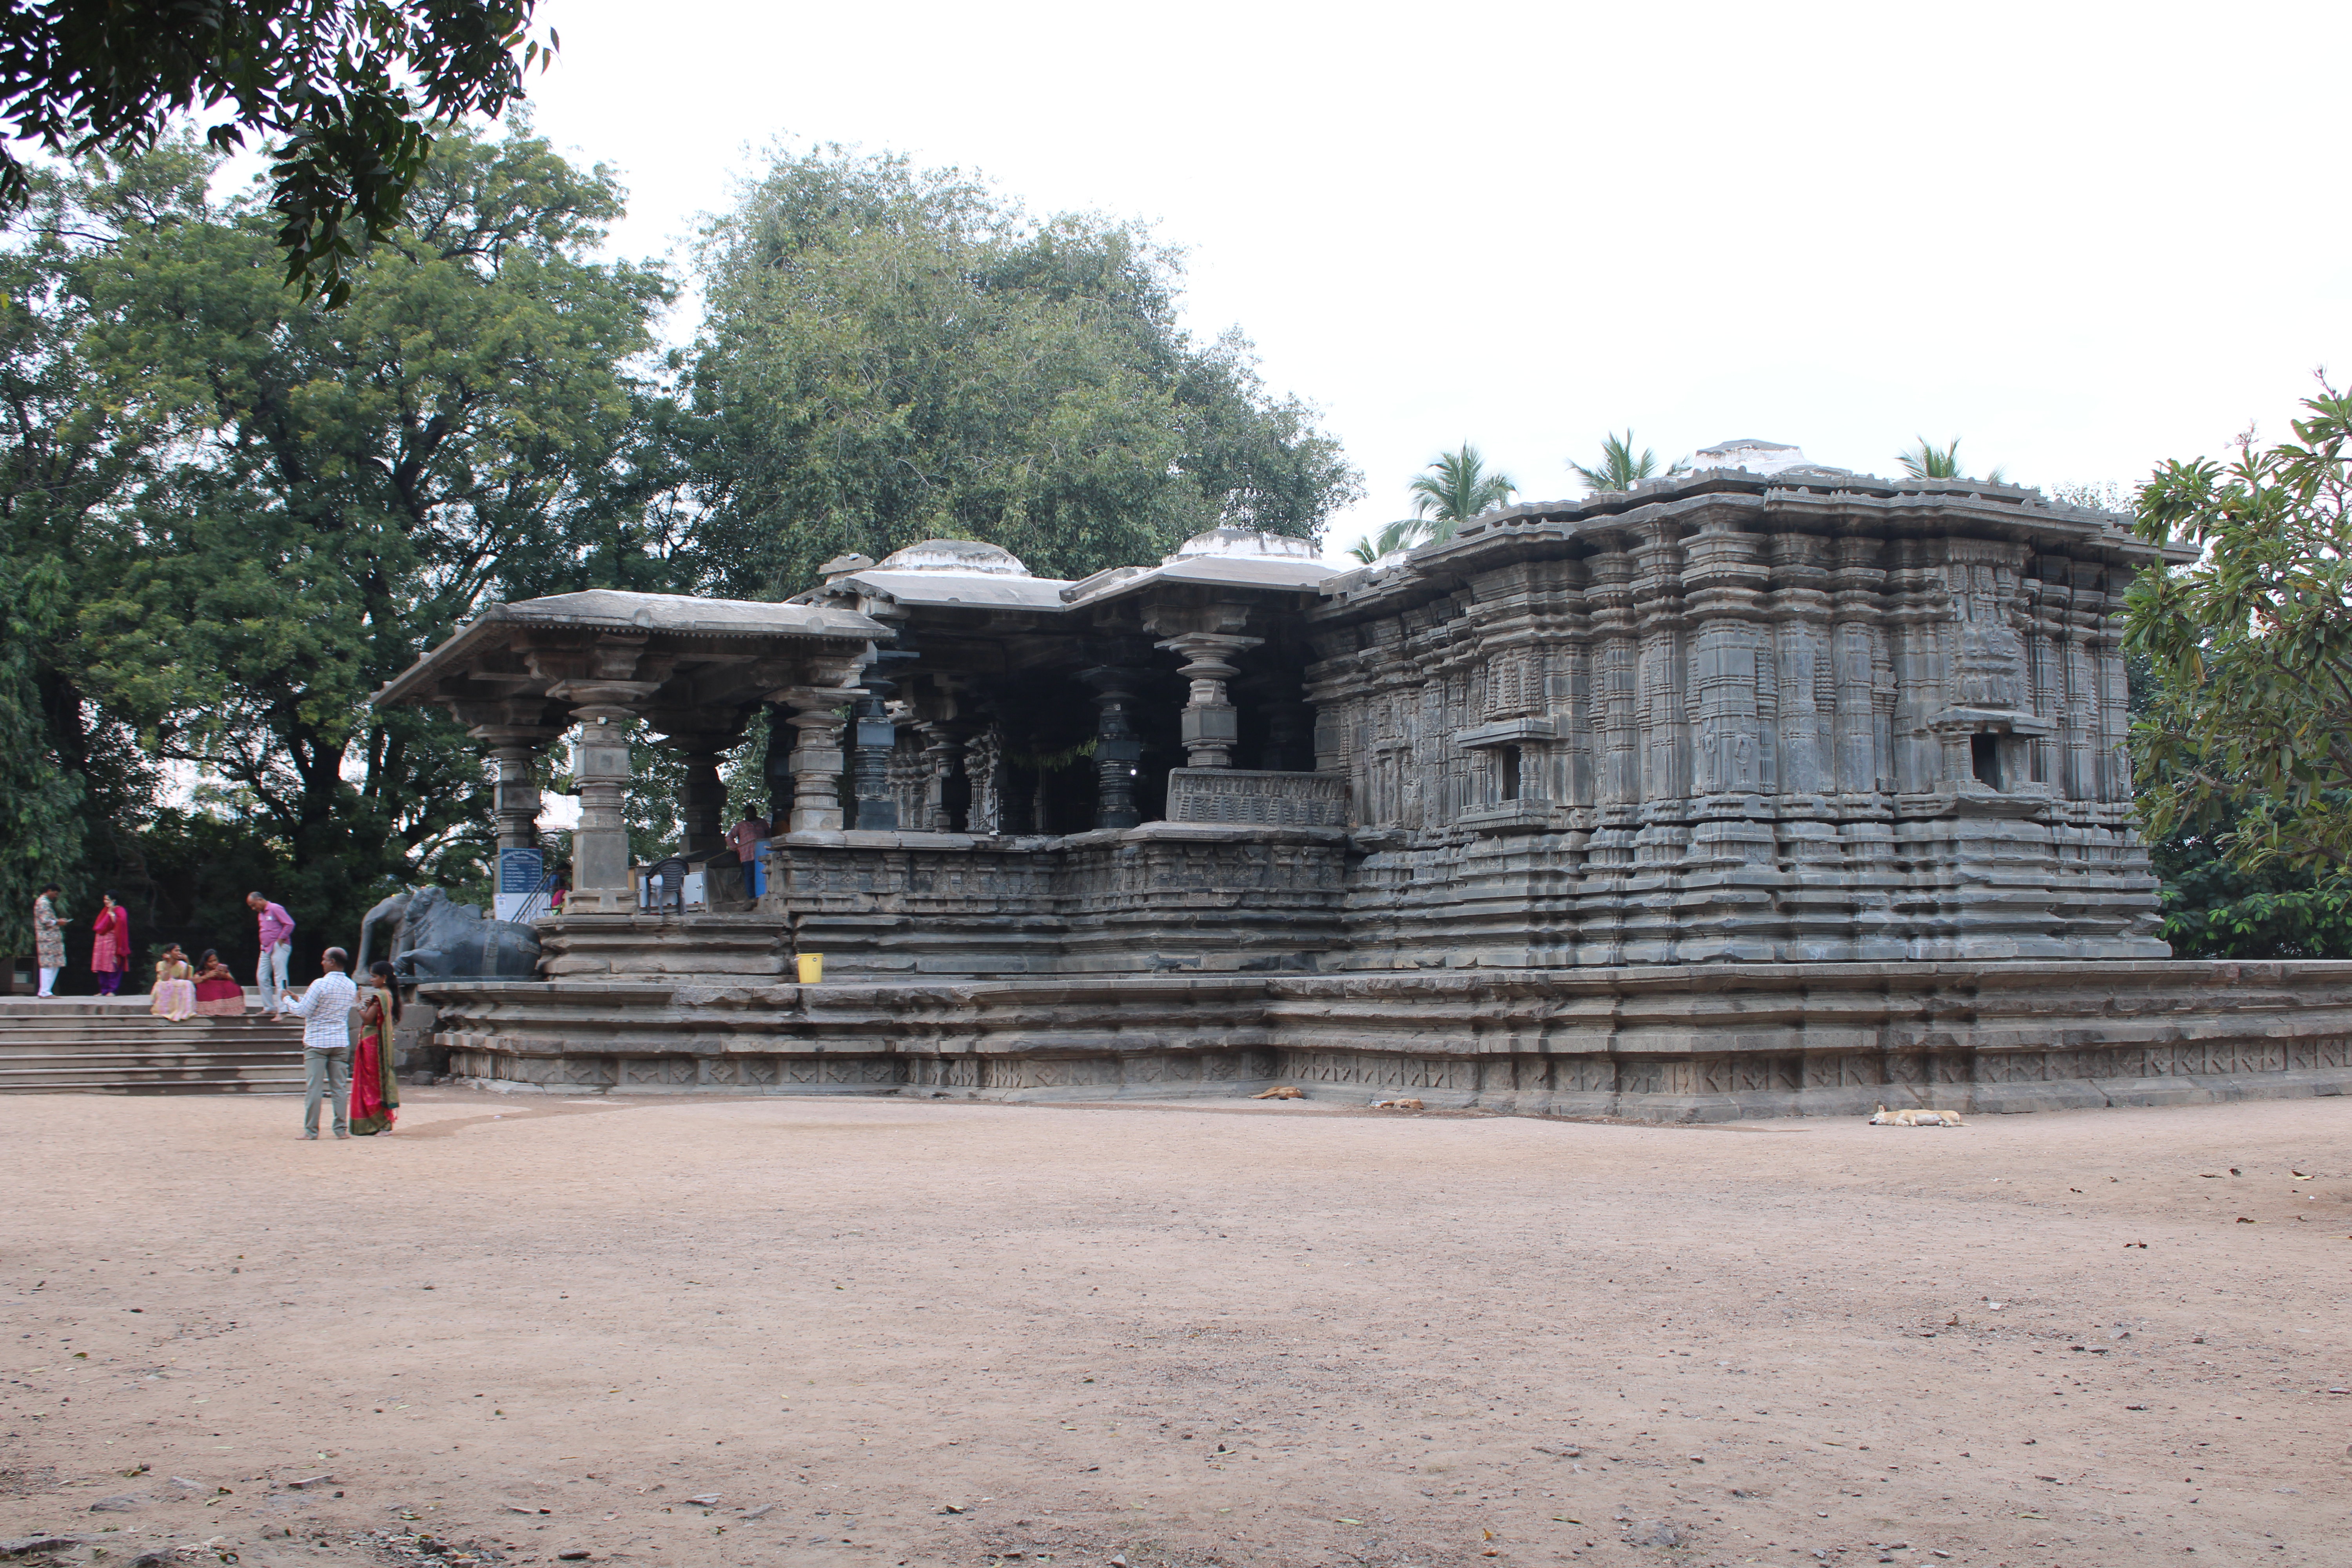
[[[682,259],[776,139],[1150,221],[1404,515],[1635,428],[2136,482],[2352,376],[2352,5],[546,0],[539,129]],[[680,331],[691,331],[682,322]]]

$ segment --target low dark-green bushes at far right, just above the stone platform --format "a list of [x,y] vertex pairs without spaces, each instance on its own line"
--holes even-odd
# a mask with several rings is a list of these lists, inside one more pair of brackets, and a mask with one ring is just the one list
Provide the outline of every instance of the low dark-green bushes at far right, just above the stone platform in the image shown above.
[[[2336,809],[2352,795],[2324,802]],[[2164,940],[2183,959],[2352,959],[2352,877],[2272,860],[2244,867],[2225,851],[2239,811],[2180,830],[2152,851],[2164,879]]]

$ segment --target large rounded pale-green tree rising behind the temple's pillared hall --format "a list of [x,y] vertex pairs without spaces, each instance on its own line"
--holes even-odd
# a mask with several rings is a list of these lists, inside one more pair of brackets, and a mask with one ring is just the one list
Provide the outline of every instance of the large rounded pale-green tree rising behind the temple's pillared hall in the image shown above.
[[931,536],[1084,576],[1218,524],[1315,538],[1362,494],[1244,339],[1176,324],[1181,259],[1134,223],[1035,221],[953,169],[818,148],[779,158],[701,256],[701,559],[729,592]]

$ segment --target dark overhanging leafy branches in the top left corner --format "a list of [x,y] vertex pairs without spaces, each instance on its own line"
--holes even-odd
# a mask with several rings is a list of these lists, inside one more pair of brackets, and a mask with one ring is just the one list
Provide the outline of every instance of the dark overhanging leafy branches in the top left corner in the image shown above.
[[[557,38],[529,38],[536,0],[9,0],[0,120],[16,141],[80,158],[153,148],[188,113],[230,113],[214,153],[273,139],[270,209],[287,282],[350,294],[360,244],[400,226],[435,122],[501,115]],[[520,59],[517,59],[520,52]],[[0,212],[33,200],[0,148]],[[358,230],[358,233],[353,233]]]

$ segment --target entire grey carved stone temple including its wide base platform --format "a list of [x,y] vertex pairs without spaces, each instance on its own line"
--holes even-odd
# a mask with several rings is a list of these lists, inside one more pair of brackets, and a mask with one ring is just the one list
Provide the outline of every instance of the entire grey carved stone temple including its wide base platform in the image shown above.
[[[2173,961],[2117,616],[2164,552],[1773,442],[1350,571],[1218,529],[1037,578],[844,557],[788,604],[494,604],[379,693],[536,844],[541,980],[447,980],[499,1088],[1232,1095],[1726,1119],[2352,1084],[2352,964]],[[724,851],[764,715],[776,832]],[[630,722],[684,766],[647,896]],[[800,985],[795,959],[823,957]]]

